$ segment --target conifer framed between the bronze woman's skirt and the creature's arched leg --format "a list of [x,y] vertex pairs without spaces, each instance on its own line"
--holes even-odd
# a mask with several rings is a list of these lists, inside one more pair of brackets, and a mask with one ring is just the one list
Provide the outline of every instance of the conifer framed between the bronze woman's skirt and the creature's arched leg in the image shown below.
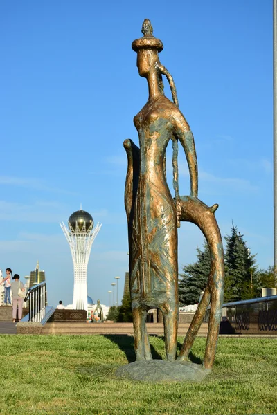
[[197,248],[197,261],[183,267],[183,274],[179,279],[179,304],[197,304],[201,291],[204,291],[211,268],[211,255],[206,241],[204,250]]

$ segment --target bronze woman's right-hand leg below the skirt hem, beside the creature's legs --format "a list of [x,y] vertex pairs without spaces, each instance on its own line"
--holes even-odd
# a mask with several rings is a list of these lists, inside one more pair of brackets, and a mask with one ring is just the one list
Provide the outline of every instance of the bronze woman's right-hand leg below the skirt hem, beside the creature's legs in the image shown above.
[[177,331],[178,331],[178,306],[170,311],[163,311],[163,326],[166,343],[166,360],[176,359]]

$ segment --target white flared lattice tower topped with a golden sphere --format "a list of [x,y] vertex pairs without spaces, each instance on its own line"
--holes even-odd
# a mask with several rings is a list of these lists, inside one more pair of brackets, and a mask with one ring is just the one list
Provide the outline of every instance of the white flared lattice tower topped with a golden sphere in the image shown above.
[[101,225],[97,223],[93,229],[93,218],[91,214],[77,210],[69,217],[69,228],[64,223],[60,226],[69,243],[74,266],[74,290],[73,308],[75,310],[87,310],[87,264],[91,246]]

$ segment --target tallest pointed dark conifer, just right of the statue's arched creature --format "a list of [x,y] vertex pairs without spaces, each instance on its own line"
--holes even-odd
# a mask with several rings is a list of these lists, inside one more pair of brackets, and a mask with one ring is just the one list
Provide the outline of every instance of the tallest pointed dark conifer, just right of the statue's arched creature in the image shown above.
[[256,296],[257,291],[257,266],[256,255],[251,254],[238,232],[238,228],[232,224],[231,235],[225,237],[225,302],[239,301]]

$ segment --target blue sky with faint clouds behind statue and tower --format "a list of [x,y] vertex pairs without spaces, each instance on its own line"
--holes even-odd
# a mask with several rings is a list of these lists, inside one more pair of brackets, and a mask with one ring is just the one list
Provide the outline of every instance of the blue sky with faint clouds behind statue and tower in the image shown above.
[[[108,305],[118,275],[122,297],[123,140],[138,143],[133,117],[148,98],[131,48],[145,18],[163,42],[161,63],[195,136],[199,199],[220,204],[222,235],[233,221],[259,266],[273,264],[270,0],[2,0],[0,268],[24,277],[39,260],[53,305],[72,302],[73,264],[59,222],[80,203],[103,223],[89,295]],[[184,156],[179,164],[188,194]],[[179,270],[202,242],[182,223]]]

